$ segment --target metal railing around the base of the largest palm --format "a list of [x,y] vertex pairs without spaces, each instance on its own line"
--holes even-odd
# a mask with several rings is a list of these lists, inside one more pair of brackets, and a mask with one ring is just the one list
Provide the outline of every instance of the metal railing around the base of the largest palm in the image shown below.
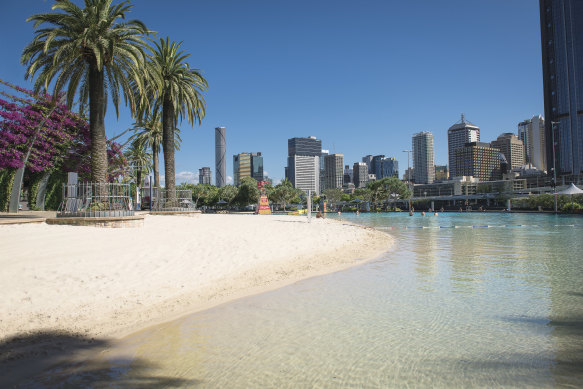
[[63,184],[58,217],[134,216],[129,184]]

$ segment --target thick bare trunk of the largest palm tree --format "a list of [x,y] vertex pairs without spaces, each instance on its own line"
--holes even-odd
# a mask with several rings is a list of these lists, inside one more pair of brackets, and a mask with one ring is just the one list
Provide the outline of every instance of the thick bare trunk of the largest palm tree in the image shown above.
[[107,182],[105,140],[105,74],[97,64],[89,66],[89,133],[91,135],[91,180]]

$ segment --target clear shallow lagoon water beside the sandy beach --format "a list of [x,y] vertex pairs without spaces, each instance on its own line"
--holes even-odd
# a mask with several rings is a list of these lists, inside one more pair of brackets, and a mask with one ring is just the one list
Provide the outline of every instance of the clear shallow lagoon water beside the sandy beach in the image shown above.
[[129,336],[31,386],[583,387],[581,217],[342,219],[396,244],[349,270]]

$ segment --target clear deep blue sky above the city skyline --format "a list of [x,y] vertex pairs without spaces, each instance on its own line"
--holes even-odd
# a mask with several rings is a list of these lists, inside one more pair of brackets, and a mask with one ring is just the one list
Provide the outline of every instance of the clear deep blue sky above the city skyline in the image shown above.
[[[447,129],[462,112],[486,142],[543,114],[536,0],[132,3],[128,18],[182,41],[209,82],[202,125],[179,125],[178,183],[203,166],[214,182],[216,126],[227,128],[227,175],[233,154],[260,151],[277,182],[288,138],[316,136],[350,165],[394,156],[402,175],[402,150],[419,131],[433,132],[435,162],[447,164]],[[25,19],[52,4],[2,0],[0,78],[30,87],[19,61],[33,37]],[[110,106],[108,137],[132,123],[128,110],[116,118]]]

